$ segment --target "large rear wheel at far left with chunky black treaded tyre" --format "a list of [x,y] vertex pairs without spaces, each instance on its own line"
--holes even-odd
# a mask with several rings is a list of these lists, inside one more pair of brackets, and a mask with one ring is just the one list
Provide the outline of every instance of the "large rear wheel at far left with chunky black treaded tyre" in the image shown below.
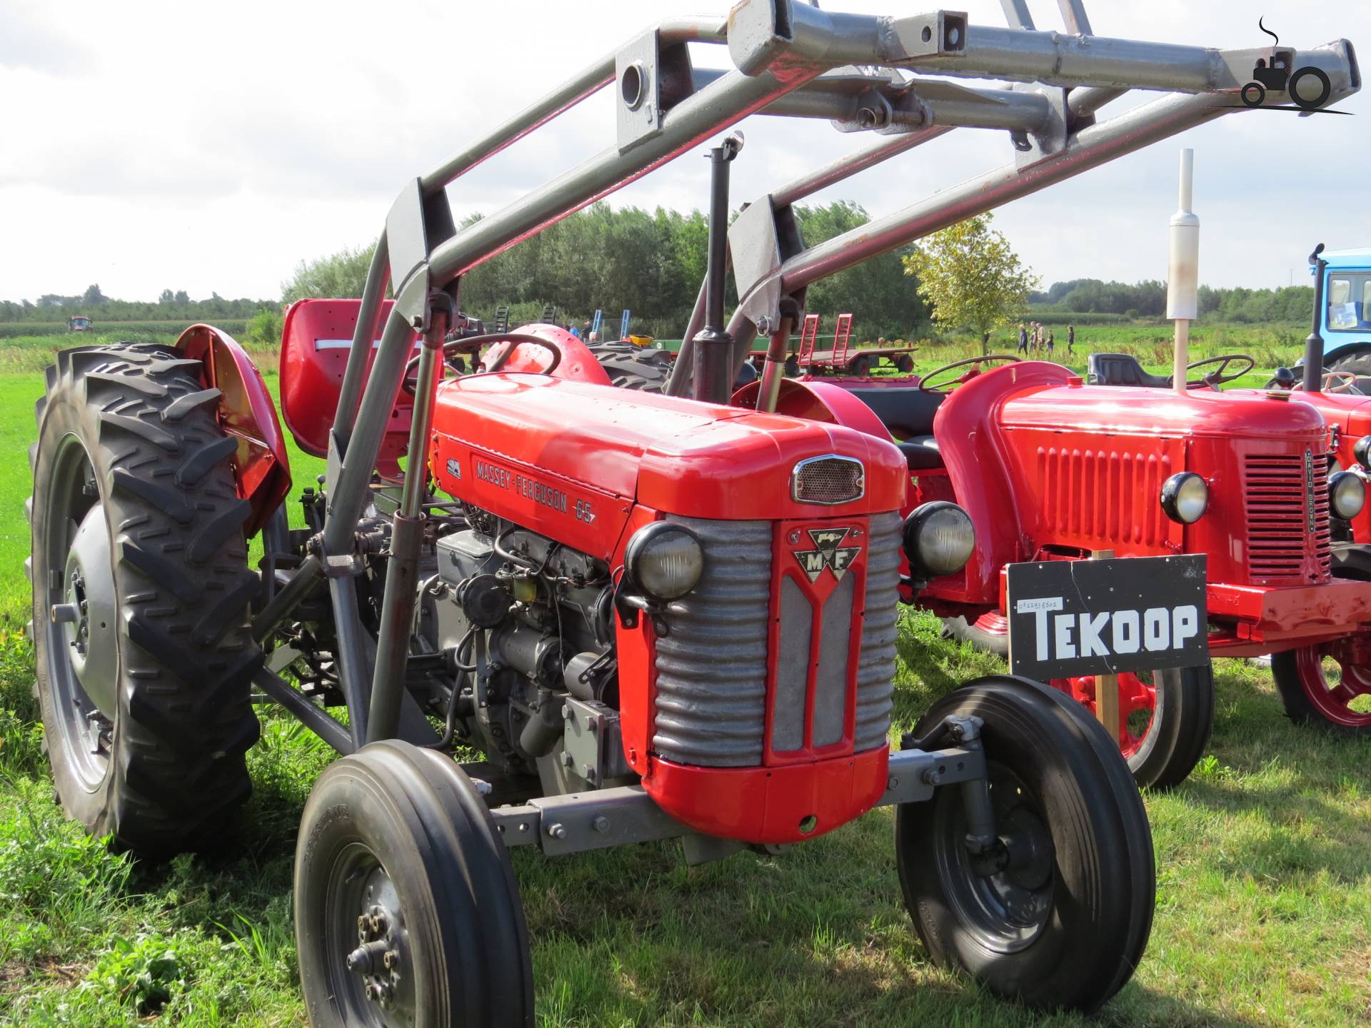
[[247,567],[218,389],[156,345],[58,354],[30,451],[33,635],[58,798],[163,857],[233,837],[256,742]]

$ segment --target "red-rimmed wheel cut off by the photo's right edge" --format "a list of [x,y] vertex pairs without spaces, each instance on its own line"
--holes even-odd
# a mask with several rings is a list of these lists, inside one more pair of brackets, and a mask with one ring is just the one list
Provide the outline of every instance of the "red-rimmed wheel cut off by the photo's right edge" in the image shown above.
[[1371,639],[1366,632],[1272,654],[1271,673],[1296,724],[1371,735]]

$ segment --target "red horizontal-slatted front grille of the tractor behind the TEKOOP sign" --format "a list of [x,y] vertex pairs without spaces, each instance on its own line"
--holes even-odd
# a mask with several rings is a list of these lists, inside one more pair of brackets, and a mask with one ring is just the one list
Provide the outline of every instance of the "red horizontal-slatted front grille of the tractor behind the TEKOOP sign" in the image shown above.
[[[1243,458],[1248,570],[1253,580],[1309,581],[1328,577],[1328,491],[1320,488],[1324,458],[1293,454]],[[1311,552],[1312,550],[1312,552]]]

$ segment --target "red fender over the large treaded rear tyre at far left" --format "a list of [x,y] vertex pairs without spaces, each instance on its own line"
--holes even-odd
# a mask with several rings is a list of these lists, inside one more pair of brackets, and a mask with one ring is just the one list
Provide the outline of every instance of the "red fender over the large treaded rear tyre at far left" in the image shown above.
[[192,325],[181,333],[175,348],[199,360],[204,366],[200,376],[204,385],[221,392],[215,413],[219,428],[239,441],[233,480],[239,498],[252,504],[243,522],[243,533],[251,539],[291,492],[291,458],[271,393],[252,358],[228,332]]

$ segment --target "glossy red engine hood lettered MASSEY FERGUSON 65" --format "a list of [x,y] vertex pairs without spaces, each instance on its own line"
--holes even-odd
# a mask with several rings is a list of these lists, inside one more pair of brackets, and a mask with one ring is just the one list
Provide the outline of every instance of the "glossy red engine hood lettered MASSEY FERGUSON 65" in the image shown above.
[[[616,510],[627,517],[636,502],[686,517],[776,519],[899,510],[909,477],[891,443],[839,425],[542,374],[443,382],[433,440],[433,470],[447,492],[522,524],[536,514],[558,515],[558,498],[537,511],[544,487],[565,489],[573,507],[576,499],[600,498],[596,514]],[[825,454],[865,465],[861,500],[823,507],[791,499],[794,466]],[[503,470],[514,477],[506,480]],[[562,515],[542,528],[598,552],[606,541],[613,546],[602,533],[616,521],[620,517],[569,525]]]

